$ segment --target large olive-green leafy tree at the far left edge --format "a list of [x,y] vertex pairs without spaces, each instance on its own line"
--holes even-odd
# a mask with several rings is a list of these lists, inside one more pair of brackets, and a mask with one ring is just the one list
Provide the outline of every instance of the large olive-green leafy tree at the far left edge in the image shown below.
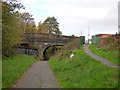
[[22,31],[20,28],[20,18],[15,9],[23,8],[19,3],[2,2],[2,54],[13,56],[14,47],[20,44]]

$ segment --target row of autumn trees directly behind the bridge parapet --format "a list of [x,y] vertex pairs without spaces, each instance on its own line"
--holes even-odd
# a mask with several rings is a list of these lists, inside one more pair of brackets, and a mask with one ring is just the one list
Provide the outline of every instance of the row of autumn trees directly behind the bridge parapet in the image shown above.
[[47,17],[47,19],[42,23],[35,25],[34,18],[30,13],[20,13],[21,28],[24,33],[46,33],[46,34],[56,34],[61,35],[62,32],[59,30],[59,23],[55,17]]

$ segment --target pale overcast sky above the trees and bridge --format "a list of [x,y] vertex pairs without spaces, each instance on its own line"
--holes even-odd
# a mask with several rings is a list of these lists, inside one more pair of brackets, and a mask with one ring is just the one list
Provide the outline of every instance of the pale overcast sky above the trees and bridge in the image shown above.
[[86,36],[118,32],[119,0],[21,0],[36,24],[54,16],[63,35]]

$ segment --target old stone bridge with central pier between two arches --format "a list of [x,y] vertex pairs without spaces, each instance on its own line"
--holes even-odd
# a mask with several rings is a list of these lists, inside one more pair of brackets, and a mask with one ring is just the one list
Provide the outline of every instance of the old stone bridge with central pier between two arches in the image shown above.
[[39,57],[44,59],[46,50],[51,46],[64,46],[66,43],[71,42],[75,38],[73,36],[51,35],[28,33],[24,34],[24,40],[21,45],[33,45],[39,52]]

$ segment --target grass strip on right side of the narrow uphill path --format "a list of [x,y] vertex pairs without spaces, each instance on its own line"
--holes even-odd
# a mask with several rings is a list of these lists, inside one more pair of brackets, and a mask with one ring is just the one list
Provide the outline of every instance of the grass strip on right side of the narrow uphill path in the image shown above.
[[105,51],[104,49],[96,49],[96,46],[90,45],[89,49],[96,55],[99,55],[118,65],[118,51]]

